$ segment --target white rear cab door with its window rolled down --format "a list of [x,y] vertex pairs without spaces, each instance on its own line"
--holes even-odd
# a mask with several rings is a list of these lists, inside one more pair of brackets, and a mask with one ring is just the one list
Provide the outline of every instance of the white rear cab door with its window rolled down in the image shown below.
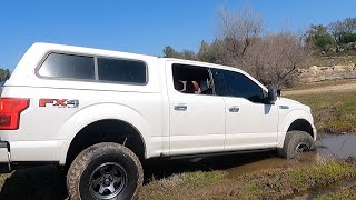
[[224,151],[225,103],[209,68],[166,62],[170,154]]

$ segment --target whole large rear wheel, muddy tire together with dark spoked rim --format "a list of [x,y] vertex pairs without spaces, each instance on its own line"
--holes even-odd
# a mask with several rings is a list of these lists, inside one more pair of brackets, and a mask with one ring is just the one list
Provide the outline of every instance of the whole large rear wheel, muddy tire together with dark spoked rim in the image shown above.
[[[142,181],[144,171],[137,156],[123,146],[103,142],[77,156],[68,170],[67,189],[71,200],[136,199]],[[100,188],[106,189],[102,192]]]

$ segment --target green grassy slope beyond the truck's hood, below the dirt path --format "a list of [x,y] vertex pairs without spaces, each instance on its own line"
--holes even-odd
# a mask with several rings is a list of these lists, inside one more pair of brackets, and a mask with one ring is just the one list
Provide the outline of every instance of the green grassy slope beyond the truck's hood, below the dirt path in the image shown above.
[[319,132],[356,133],[356,92],[326,92],[288,96],[312,107]]

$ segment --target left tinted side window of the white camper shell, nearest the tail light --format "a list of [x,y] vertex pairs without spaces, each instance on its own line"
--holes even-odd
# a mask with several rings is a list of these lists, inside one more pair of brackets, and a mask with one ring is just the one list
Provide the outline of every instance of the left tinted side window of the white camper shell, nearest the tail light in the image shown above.
[[38,73],[48,78],[95,80],[95,61],[92,57],[50,53]]

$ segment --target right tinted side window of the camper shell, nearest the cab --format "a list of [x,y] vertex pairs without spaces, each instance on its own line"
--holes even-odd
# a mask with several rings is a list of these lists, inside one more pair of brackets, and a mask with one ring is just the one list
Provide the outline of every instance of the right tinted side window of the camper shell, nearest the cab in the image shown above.
[[98,58],[99,80],[146,83],[146,64],[135,60]]

